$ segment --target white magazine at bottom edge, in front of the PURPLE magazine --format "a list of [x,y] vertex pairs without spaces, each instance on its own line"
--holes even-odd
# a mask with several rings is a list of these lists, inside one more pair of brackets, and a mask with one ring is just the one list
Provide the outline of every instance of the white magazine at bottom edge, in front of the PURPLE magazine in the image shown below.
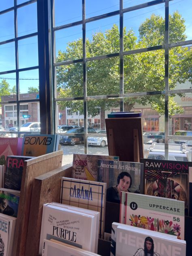
[[53,239],[43,240],[43,253],[42,256],[98,256],[93,252],[67,245]]

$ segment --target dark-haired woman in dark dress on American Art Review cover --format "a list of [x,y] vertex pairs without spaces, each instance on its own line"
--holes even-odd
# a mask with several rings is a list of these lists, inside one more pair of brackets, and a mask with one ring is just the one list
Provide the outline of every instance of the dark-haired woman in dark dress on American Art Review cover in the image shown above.
[[121,191],[130,192],[132,177],[127,172],[119,173],[117,177],[117,185],[107,189],[107,201],[112,203],[120,203]]

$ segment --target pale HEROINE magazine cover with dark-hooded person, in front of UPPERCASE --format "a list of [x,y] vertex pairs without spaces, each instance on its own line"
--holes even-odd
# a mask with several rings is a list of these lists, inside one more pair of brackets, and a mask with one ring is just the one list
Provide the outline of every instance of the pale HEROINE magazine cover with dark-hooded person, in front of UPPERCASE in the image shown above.
[[[141,231],[140,231],[141,230]],[[117,226],[116,256],[184,256],[186,243],[158,233],[143,233],[143,229],[135,230]]]

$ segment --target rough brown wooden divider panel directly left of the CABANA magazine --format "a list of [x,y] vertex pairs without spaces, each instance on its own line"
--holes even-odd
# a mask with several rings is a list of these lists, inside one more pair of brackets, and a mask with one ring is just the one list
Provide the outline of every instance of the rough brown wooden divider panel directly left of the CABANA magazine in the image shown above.
[[43,204],[60,203],[61,178],[71,177],[71,173],[72,166],[66,164],[34,179],[25,255],[38,254]]

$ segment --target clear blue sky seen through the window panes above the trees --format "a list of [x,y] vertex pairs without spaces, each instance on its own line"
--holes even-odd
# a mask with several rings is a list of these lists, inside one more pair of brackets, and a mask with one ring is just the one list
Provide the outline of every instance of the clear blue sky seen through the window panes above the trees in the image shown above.
[[[0,1],[0,11],[13,6],[13,0]],[[24,0],[17,0],[20,4]],[[147,2],[147,0],[124,0],[124,8]],[[178,10],[186,20],[186,34],[188,40],[192,39],[192,4],[191,0],[173,0],[170,3],[170,13]],[[119,0],[86,0],[86,18],[94,17],[119,9]],[[140,24],[152,13],[164,17],[164,4],[147,7],[141,10],[132,11],[124,14],[124,26],[127,29],[132,28],[139,35]],[[55,0],[55,26],[79,21],[82,19],[81,0]],[[13,12],[0,15],[0,41],[8,40],[14,36]],[[116,23],[119,26],[119,16],[113,16],[99,21],[87,23],[86,36],[92,38],[95,32],[111,28]],[[55,34],[56,53],[59,49],[65,51],[68,41],[74,41],[82,37],[82,26],[75,26]],[[36,3],[18,9],[18,35],[37,32]],[[19,68],[25,68],[38,65],[37,37],[23,39],[19,41]],[[13,43],[0,45],[0,71],[15,69],[15,48]],[[0,78],[7,79],[11,87],[15,85],[15,74],[0,75]],[[25,93],[28,87],[38,87],[38,70],[25,71],[19,74],[20,92]],[[28,80],[25,80],[28,79]],[[33,80],[32,80],[33,79]],[[0,79],[1,81],[1,79]]]

